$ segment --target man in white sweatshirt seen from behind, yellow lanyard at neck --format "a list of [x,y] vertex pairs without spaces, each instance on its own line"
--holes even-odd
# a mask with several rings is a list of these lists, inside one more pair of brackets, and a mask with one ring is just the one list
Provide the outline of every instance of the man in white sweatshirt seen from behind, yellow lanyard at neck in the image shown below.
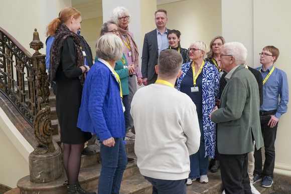
[[131,102],[137,166],[153,184],[153,193],[186,194],[189,155],[199,149],[196,106],[174,88],[182,62],[177,51],[162,51],[156,83],[137,90]]

